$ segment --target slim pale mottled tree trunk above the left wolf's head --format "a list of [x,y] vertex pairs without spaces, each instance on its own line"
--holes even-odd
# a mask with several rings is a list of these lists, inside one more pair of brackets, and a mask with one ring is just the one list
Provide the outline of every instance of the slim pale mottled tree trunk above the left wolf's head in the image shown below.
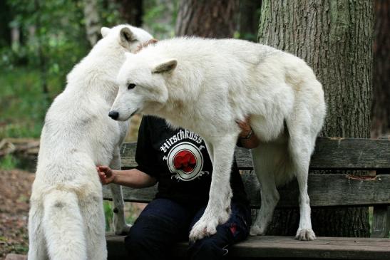
[[101,25],[98,14],[97,0],[84,0],[84,18],[86,19],[86,33],[89,43],[94,46],[101,36]]

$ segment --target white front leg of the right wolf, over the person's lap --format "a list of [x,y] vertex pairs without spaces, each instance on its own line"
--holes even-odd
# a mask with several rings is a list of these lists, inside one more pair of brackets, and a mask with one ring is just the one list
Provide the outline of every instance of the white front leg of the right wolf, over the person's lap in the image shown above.
[[210,142],[214,158],[209,201],[202,217],[190,232],[190,241],[202,239],[217,232],[217,225],[227,222],[230,217],[230,172],[237,135],[218,137]]

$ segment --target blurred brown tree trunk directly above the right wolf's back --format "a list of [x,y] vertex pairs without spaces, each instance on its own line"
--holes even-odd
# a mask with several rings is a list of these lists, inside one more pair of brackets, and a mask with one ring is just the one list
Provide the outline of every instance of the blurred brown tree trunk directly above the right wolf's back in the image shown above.
[[237,28],[239,0],[182,0],[176,20],[177,36],[232,37]]

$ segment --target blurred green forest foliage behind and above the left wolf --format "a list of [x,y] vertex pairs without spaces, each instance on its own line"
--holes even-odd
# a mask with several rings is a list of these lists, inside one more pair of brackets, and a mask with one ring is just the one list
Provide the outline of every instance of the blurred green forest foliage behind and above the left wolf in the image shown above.
[[[5,3],[8,27],[18,28],[21,38],[11,46],[5,41],[0,45],[0,140],[39,137],[48,106],[66,85],[66,74],[91,48],[83,1]],[[173,36],[178,0],[147,0],[144,9],[145,27],[156,38]],[[103,26],[123,23],[118,10],[118,1],[98,0]]]

